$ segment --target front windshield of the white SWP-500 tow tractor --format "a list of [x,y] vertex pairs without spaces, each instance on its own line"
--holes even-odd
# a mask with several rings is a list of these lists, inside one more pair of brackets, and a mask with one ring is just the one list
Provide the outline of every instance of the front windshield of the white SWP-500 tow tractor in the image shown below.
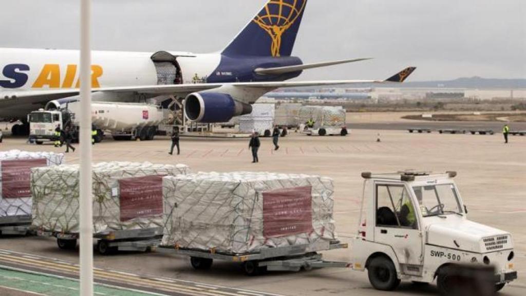
[[454,184],[414,186],[413,191],[424,217],[448,214],[462,215]]

